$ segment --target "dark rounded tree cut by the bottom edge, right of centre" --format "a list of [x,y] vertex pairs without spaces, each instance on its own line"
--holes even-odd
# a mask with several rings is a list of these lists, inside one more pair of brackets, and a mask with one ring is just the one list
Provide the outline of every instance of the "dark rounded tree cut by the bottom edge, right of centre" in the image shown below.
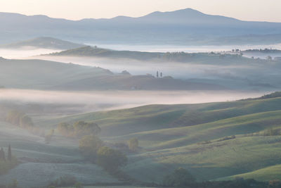
[[195,178],[184,168],[174,170],[174,173],[167,175],[163,180],[163,184],[165,186],[176,187],[188,186],[188,184],[192,184],[194,182]]

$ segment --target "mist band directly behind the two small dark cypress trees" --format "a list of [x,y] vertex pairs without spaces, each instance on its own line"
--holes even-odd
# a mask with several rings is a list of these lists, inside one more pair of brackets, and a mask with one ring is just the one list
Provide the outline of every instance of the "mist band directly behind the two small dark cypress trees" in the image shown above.
[[[111,70],[114,73],[121,73],[127,70],[132,75],[155,75],[157,71],[163,76],[172,76],[178,79],[212,79],[232,75],[237,77],[241,71],[252,69],[250,65],[208,65],[203,63],[177,63],[177,62],[155,62],[137,61],[124,58],[96,58],[96,57],[74,57],[74,56],[38,56],[36,58],[62,63],[74,63],[78,65],[95,66]],[[216,75],[214,75],[216,71]]]

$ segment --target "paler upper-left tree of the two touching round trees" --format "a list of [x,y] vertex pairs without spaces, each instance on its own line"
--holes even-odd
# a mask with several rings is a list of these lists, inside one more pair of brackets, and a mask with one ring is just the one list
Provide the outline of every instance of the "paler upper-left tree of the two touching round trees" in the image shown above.
[[95,163],[98,149],[103,145],[103,142],[94,135],[84,136],[79,141],[79,150],[81,154],[89,161]]

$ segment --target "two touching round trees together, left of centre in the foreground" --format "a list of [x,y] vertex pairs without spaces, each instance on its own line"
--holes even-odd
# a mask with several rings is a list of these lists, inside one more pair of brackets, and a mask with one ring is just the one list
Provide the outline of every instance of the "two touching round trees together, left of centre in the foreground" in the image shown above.
[[87,135],[80,139],[79,150],[87,160],[100,165],[109,173],[117,173],[127,162],[124,153],[105,146],[95,135]]

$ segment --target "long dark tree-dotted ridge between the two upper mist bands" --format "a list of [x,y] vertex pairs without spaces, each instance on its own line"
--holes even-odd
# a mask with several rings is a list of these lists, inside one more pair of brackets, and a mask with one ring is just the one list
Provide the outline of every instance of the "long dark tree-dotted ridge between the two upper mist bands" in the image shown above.
[[49,56],[87,56],[99,58],[129,58],[139,61],[171,61],[183,63],[206,63],[206,64],[225,64],[235,63],[265,63],[265,60],[253,60],[244,58],[237,54],[215,54],[215,53],[185,53],[185,52],[145,52],[145,51],[117,51],[112,49],[102,49],[97,46],[82,46],[77,49],[48,54]]

